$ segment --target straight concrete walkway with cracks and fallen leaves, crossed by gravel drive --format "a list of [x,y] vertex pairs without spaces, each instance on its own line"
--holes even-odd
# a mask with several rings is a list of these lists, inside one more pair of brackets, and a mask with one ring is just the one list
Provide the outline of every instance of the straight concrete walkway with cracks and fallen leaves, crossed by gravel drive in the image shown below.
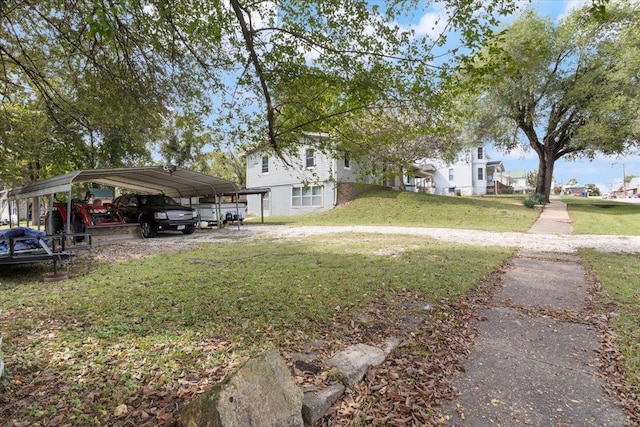
[[[529,230],[566,235],[571,220],[559,199]],[[598,334],[584,318],[585,272],[575,254],[521,250],[488,307],[478,338],[443,407],[456,426],[625,426],[625,412],[597,374]]]

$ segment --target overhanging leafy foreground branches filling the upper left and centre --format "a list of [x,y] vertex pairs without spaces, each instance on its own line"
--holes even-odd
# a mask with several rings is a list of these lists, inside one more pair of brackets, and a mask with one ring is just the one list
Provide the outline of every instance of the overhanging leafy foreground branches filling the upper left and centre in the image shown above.
[[[471,47],[515,7],[444,3],[446,31]],[[335,131],[365,111],[433,107],[446,70],[434,57],[446,35],[397,24],[423,8],[418,0],[2,2],[0,100],[15,102],[16,88],[40,99],[53,123],[87,143],[77,148],[98,153],[90,166],[143,161],[138,142],[156,143],[169,111],[211,120],[235,144],[267,140],[280,152],[302,131]],[[331,96],[319,104],[322,90]],[[191,143],[174,139],[174,154]]]

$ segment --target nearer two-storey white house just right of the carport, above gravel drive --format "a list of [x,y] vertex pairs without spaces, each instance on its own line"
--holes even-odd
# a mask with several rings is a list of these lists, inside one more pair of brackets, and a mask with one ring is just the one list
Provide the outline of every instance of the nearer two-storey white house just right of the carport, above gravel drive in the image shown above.
[[[256,150],[247,154],[247,190],[270,189],[262,198],[264,216],[299,215],[326,211],[338,204],[339,184],[373,183],[362,178],[356,162],[348,155],[336,158],[317,149],[322,133],[305,135],[297,156],[285,157],[291,166],[273,153]],[[260,215],[261,197],[247,196],[248,215]]]

